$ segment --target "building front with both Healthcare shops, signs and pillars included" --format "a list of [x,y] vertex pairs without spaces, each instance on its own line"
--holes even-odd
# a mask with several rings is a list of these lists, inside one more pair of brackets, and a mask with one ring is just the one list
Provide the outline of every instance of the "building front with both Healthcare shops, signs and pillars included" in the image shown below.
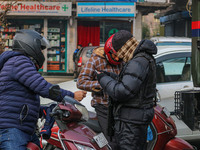
[[[3,10],[8,2],[0,2],[0,10]],[[163,2],[166,3],[166,0]],[[44,51],[45,62],[40,72],[73,73],[72,57],[77,44],[87,46],[88,43],[92,43],[93,46],[103,46],[110,35],[122,29],[130,31],[141,40],[144,9],[141,9],[143,12],[140,11],[137,5],[142,3],[146,2],[137,2],[137,0],[17,1],[8,13],[8,28],[1,27],[0,30],[3,38],[6,39],[6,50],[11,49],[12,39],[17,30],[38,31],[47,37],[52,47]],[[159,7],[156,5],[156,8]]]

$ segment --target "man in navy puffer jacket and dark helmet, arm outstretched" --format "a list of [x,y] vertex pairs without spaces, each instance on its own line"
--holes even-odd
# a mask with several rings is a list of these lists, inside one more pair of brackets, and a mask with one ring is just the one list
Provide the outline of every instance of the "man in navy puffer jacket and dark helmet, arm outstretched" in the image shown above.
[[60,102],[66,95],[80,101],[84,91],[60,89],[61,95],[49,93],[52,86],[39,73],[44,63],[42,50],[47,40],[33,30],[20,30],[13,40],[13,50],[0,55],[0,149],[26,150],[28,142],[39,146],[35,135],[40,98]]

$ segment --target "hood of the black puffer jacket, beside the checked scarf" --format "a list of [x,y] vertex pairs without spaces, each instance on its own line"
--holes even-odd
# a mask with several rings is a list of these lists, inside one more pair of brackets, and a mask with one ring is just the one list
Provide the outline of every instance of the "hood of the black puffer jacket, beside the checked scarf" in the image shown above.
[[135,49],[133,56],[140,52],[146,52],[148,54],[155,55],[157,54],[157,47],[151,40],[142,40]]

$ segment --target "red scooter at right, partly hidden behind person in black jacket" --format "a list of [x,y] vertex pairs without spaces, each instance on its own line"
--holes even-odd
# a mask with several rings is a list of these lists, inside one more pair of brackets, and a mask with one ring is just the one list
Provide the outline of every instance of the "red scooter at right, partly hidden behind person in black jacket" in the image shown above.
[[194,150],[188,142],[175,137],[177,129],[170,112],[160,105],[154,107],[155,114],[150,128],[153,139],[148,142],[147,150]]

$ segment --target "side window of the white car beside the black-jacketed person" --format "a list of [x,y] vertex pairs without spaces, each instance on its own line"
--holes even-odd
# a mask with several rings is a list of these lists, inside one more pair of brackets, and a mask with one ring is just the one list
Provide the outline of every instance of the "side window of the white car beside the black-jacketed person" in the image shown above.
[[177,57],[156,64],[157,83],[189,81],[190,57]]

